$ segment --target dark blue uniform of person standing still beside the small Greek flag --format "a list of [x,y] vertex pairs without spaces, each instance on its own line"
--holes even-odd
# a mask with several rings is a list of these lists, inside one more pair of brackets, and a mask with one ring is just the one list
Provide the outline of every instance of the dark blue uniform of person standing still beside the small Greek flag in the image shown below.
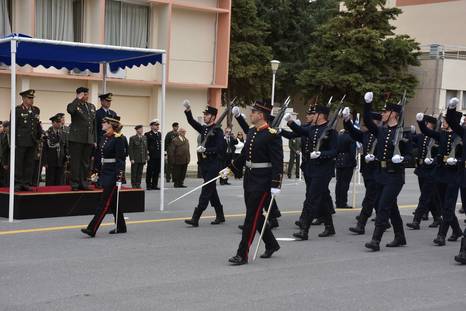
[[356,141],[349,132],[338,136],[338,155],[336,156],[335,204],[337,209],[352,208],[348,206],[349,183],[356,167]]

